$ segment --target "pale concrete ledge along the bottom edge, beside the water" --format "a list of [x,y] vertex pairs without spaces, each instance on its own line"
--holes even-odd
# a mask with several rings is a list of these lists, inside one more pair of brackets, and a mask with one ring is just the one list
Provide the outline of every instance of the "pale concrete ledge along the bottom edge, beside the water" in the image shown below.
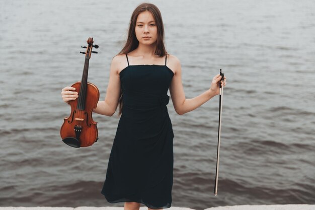
[[[123,210],[124,207],[93,207],[93,206],[78,206],[78,207],[50,207],[50,206],[37,206],[37,207],[0,207],[0,210]],[[140,210],[146,210],[146,206],[140,206]],[[168,210],[194,210],[187,207],[171,206],[165,208]],[[226,205],[218,207],[210,207],[204,210],[315,210],[315,204],[280,204],[280,205]]]

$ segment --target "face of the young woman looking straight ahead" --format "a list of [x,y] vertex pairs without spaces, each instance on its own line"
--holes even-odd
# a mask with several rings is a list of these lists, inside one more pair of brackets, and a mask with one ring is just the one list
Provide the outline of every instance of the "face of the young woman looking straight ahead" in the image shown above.
[[141,44],[150,45],[156,42],[157,27],[149,11],[138,15],[135,27],[136,37]]

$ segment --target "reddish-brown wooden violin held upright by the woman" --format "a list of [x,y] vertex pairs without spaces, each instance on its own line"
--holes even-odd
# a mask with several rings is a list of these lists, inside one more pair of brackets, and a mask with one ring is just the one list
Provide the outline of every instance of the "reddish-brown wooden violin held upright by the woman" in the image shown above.
[[78,92],[77,100],[68,101],[71,106],[71,113],[68,117],[64,117],[64,122],[60,129],[62,141],[68,146],[74,148],[89,147],[98,140],[97,122],[92,118],[92,111],[97,107],[100,98],[99,89],[92,83],[88,82],[89,60],[92,53],[92,48],[99,48],[98,45],[93,45],[93,38],[88,40],[85,54],[85,62],[82,74],[82,80],[74,83],[74,87]]

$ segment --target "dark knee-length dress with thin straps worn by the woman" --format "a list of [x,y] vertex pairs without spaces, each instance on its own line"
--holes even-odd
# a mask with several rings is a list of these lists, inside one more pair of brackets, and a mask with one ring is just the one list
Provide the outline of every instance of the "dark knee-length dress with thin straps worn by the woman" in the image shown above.
[[120,72],[123,108],[101,193],[108,202],[169,208],[173,186],[173,126],[166,65],[129,65]]

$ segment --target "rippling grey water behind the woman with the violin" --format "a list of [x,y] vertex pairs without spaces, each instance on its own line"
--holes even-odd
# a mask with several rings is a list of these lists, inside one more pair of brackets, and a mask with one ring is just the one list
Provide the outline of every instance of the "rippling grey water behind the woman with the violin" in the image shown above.
[[[105,98],[111,59],[140,3],[2,1],[1,206],[123,206],[100,194],[118,112],[94,114],[99,141],[70,148],[59,134],[70,114],[60,92],[81,80],[78,52],[93,37],[100,48],[89,82]],[[186,98],[206,91],[219,68],[227,77],[216,197],[219,97],[184,115],[168,104],[172,206],[314,204],[315,2],[151,3],[161,10],[168,52],[181,60]]]

